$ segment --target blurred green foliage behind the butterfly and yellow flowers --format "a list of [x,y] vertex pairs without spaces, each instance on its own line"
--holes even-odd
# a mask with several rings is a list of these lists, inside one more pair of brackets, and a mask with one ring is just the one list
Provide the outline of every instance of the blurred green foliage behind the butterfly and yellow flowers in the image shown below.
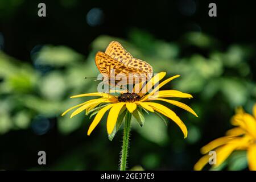
[[[204,32],[188,31],[168,42],[130,28],[126,39],[97,36],[86,45],[87,55],[64,44],[44,44],[31,51],[31,61],[0,51],[1,169],[117,169],[122,131],[110,142],[104,120],[88,137],[92,119],[83,114],[60,117],[64,110],[88,100],[70,96],[96,92],[98,82],[84,77],[98,75],[94,56],[112,40],[150,63],[155,73],[181,75],[164,89],[192,94],[191,100],[181,101],[199,115],[196,118],[171,106],[188,127],[187,139],[173,122],[166,126],[153,114],[146,116],[143,127],[132,121],[129,169],[191,170],[201,156],[200,147],[231,127],[234,109],[243,106],[250,113],[255,103],[255,47],[229,44],[221,48],[222,40]],[[40,150],[47,152],[46,166],[37,164]],[[246,153],[241,151],[218,169],[246,167]]]

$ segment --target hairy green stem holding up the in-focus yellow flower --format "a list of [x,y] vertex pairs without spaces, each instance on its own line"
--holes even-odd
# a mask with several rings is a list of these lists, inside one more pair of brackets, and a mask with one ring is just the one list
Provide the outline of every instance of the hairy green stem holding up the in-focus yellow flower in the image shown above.
[[126,161],[128,155],[128,146],[129,146],[129,135],[130,135],[130,123],[131,123],[131,113],[127,111],[125,116],[125,127],[123,129],[123,144],[121,151],[121,159],[120,159],[120,171],[126,170]]

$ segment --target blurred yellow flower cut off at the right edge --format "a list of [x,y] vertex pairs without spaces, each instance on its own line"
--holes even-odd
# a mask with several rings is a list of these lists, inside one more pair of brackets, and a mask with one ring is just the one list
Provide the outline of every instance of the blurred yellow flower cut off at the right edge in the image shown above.
[[201,148],[204,155],[194,166],[195,170],[201,170],[208,163],[209,151],[216,151],[215,167],[220,166],[235,150],[247,151],[247,162],[251,171],[256,171],[256,104],[253,107],[253,115],[245,113],[242,108],[237,109],[232,117],[234,127],[226,132],[225,137],[218,138]]

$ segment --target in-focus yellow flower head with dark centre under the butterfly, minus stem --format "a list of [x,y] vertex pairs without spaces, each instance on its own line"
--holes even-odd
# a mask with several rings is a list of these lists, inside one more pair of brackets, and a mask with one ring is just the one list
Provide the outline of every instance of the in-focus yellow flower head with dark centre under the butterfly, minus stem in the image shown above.
[[[171,78],[168,78],[167,80],[164,80],[159,85],[155,86],[155,88],[152,88],[156,84],[156,82],[162,80],[162,78],[166,75],[166,72],[160,72],[156,74],[154,77],[151,78],[150,81],[147,82],[147,84],[142,86],[142,83],[135,84],[134,89],[136,86],[141,86],[142,90],[144,87],[147,88],[147,90],[151,90],[147,94],[142,93],[122,93],[119,96],[114,96],[113,94],[108,93],[85,93],[80,94],[77,96],[72,96],[71,98],[77,98],[77,97],[86,97],[86,96],[100,96],[100,98],[89,100],[86,102],[83,102],[82,104],[76,105],[71,107],[70,109],[66,110],[63,114],[65,115],[68,113],[68,111],[75,109],[76,107],[79,107],[73,113],[71,114],[71,118],[75,115],[81,113],[82,111],[86,110],[86,113],[89,113],[93,109],[96,109],[98,106],[98,111],[96,114],[96,117],[94,118],[92,124],[89,127],[88,135],[92,133],[93,129],[98,125],[98,123],[101,121],[102,117],[106,113],[106,111],[109,110],[108,119],[106,122],[106,127],[108,134],[111,134],[114,130],[115,124],[117,123],[118,116],[121,113],[124,113],[126,111],[129,111],[130,113],[134,114],[136,112],[141,112],[140,110],[146,110],[154,113],[155,111],[158,113],[161,113],[165,115],[166,117],[172,119],[183,131],[184,138],[187,137],[188,131],[187,127],[184,125],[184,123],[181,121],[179,117],[172,111],[171,109],[168,109],[168,107],[158,104],[156,102],[152,101],[164,101],[168,102],[169,104],[181,107],[184,110],[189,111],[193,115],[196,115],[195,111],[191,109],[191,107],[175,100],[168,100],[167,97],[180,97],[180,98],[192,98],[191,94],[182,93],[177,90],[161,90],[159,89],[173,80],[174,78],[179,77],[179,75],[173,76]],[[152,86],[151,86],[152,85]],[[149,87],[150,88],[149,88]],[[99,106],[100,104],[104,104],[103,106]]]

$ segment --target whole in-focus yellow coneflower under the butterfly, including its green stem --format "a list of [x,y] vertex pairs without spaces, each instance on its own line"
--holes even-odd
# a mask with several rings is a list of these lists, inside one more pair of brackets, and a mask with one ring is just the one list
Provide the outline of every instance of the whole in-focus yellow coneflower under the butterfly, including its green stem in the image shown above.
[[99,96],[100,98],[89,100],[89,101],[83,102],[82,104],[73,106],[70,109],[66,110],[62,115],[65,115],[68,111],[75,109],[77,107],[79,108],[73,111],[73,113],[71,114],[71,118],[81,113],[84,110],[86,111],[87,115],[88,114],[90,114],[90,116],[96,115],[93,119],[93,122],[89,126],[89,130],[87,134],[90,135],[90,133],[92,133],[94,128],[101,121],[106,111],[109,110],[106,126],[107,126],[107,131],[108,131],[110,140],[112,140],[115,133],[118,131],[119,127],[121,126],[123,119],[125,119],[125,126],[123,129],[123,144],[122,144],[121,159],[120,159],[121,162],[119,167],[121,171],[125,171],[126,159],[127,159],[127,153],[128,153],[131,115],[133,115],[134,118],[137,119],[140,125],[143,125],[144,117],[143,117],[142,110],[146,111],[147,113],[149,111],[152,113],[163,114],[166,117],[172,119],[172,121],[174,121],[180,127],[181,131],[183,131],[184,138],[187,137],[188,131],[187,131],[187,127],[184,125],[181,119],[177,117],[174,111],[154,101],[163,101],[172,105],[176,105],[178,107],[181,107],[182,109],[189,111],[190,113],[194,114],[197,117],[195,111],[193,111],[191,107],[179,101],[166,99],[171,97],[192,98],[191,94],[182,93],[177,90],[160,90],[159,91],[159,89],[162,86],[164,86],[174,78],[179,77],[179,75],[176,75],[158,84],[158,82],[162,80],[162,78],[165,75],[166,75],[166,72],[160,72],[156,74],[154,77],[152,77],[151,80],[148,82],[143,81],[135,84],[132,93],[129,93],[129,92],[121,93],[119,94],[119,96],[114,96],[114,94],[101,93],[101,92],[85,93],[77,96],[72,96],[71,98],[86,97],[86,96]]

